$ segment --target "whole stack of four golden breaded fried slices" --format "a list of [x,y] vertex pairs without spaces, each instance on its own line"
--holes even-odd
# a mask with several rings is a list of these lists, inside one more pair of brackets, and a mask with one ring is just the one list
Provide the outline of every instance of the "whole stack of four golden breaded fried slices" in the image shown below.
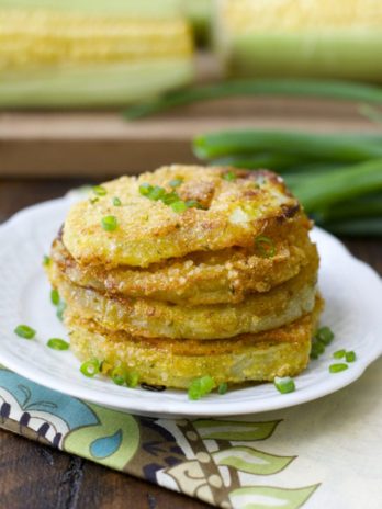
[[74,353],[177,388],[299,374],[323,307],[311,227],[266,170],[175,165],[96,186],[48,269]]

